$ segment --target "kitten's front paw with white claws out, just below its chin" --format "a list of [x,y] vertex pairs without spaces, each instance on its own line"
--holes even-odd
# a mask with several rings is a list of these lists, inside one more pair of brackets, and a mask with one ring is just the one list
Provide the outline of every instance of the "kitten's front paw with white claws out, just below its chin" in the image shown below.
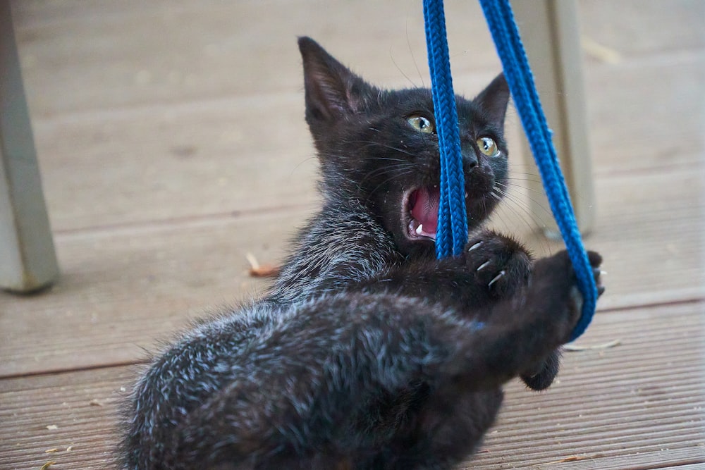
[[466,265],[477,283],[494,297],[508,297],[527,285],[531,256],[519,242],[491,231],[474,237],[465,246]]

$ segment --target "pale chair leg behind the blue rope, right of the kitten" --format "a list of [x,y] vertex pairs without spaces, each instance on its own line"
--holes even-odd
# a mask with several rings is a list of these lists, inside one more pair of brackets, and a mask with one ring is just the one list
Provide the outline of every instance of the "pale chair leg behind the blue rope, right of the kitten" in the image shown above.
[[[512,1],[512,8],[548,125],[553,130],[553,144],[556,145],[578,226],[582,233],[588,233],[595,221],[595,194],[576,2],[520,0]],[[525,154],[530,155],[528,143],[524,144]],[[529,168],[534,168],[538,175],[533,159],[529,157],[526,160]],[[531,204],[548,208],[548,202],[541,196],[541,183],[528,183],[535,190],[532,191],[535,201]],[[536,214],[543,212],[536,207],[533,209]],[[557,235],[555,223],[546,221],[549,222],[551,225],[541,228],[548,235]]]

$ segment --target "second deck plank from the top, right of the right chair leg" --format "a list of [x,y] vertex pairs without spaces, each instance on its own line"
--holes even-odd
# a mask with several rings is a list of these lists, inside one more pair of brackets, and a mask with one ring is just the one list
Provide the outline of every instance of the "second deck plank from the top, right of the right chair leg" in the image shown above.
[[588,66],[586,75],[596,177],[702,161],[705,48]]

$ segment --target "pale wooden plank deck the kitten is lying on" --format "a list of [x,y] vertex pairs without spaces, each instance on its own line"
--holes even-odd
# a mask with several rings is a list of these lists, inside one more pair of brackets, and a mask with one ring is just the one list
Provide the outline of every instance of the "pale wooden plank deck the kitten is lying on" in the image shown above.
[[[0,469],[110,468],[134,364],[256,295],[317,201],[296,35],[368,80],[428,84],[420,1],[16,1],[63,277],[0,292]],[[446,5],[455,87],[499,70],[472,1]],[[518,383],[474,469],[705,468],[705,2],[586,0],[607,292],[559,381]],[[608,58],[608,57],[607,57]],[[419,72],[421,70],[421,72]],[[537,252],[526,167],[496,223]]]

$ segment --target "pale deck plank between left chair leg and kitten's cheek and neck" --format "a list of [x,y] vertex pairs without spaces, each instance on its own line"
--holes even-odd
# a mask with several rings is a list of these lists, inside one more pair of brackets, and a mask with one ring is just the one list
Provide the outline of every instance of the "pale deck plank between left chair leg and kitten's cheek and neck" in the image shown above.
[[37,134],[40,154],[61,155],[43,162],[57,233],[317,199],[299,92],[75,114]]

